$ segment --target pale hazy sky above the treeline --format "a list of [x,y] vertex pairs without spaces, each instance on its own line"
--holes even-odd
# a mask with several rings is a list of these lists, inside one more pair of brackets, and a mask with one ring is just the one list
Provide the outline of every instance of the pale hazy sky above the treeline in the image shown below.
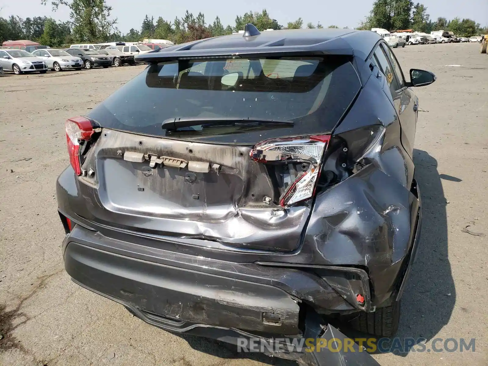
[[[416,2],[417,0],[415,0]],[[47,1],[50,3],[50,0]],[[482,26],[488,25],[488,0],[424,0],[430,17],[470,18]],[[206,22],[212,22],[219,16],[225,25],[234,25],[238,14],[246,11],[261,11],[265,8],[270,16],[280,24],[302,17],[304,24],[308,21],[316,24],[320,21],[324,26],[336,24],[340,27],[356,27],[371,9],[373,0],[324,0],[309,2],[313,5],[300,6],[305,2],[296,0],[248,0],[248,1],[154,1],[154,0],[107,0],[113,7],[112,16],[118,18],[118,28],[127,33],[130,28],[140,29],[144,16],[162,16],[166,20],[182,17],[185,10],[195,16],[198,12],[205,14]],[[224,4],[224,5],[222,5]],[[297,6],[299,5],[299,6]],[[68,20],[69,11],[60,7],[57,12],[51,11],[51,5],[41,5],[41,0],[0,1],[0,16],[18,15],[21,18],[35,16],[51,16],[58,20]]]

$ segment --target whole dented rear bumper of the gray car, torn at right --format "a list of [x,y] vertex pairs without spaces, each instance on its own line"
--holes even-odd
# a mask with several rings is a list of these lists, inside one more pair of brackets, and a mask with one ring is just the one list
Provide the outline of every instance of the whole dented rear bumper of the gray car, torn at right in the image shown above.
[[[261,340],[266,344],[275,342],[273,348],[283,351],[264,353],[294,360],[300,365],[345,365],[345,361],[378,365],[357,345],[353,345],[354,351],[347,353],[276,345],[276,342],[283,342],[281,337],[285,335],[288,339],[335,338],[339,340],[336,342],[345,344],[347,337],[325,324],[323,317],[313,309],[305,311],[299,298],[322,296],[331,307],[348,306],[342,296],[315,275],[293,268],[219,261],[207,267],[202,266],[201,261],[209,260],[203,258],[179,262],[176,267],[175,261],[183,259],[178,254],[171,256],[157,250],[142,253],[135,249],[137,245],[130,245],[132,256],[128,257],[122,253],[126,251],[127,254],[129,244],[115,243],[113,239],[102,238],[100,233],[76,225],[63,245],[66,271],[75,283],[124,305],[146,323],[167,331],[231,344],[238,344],[239,339]],[[135,258],[142,254],[146,259],[152,255],[153,261]],[[192,267],[201,270],[192,270]],[[219,272],[221,275],[217,274]],[[233,277],[229,277],[230,273]],[[243,280],[246,277],[253,282]],[[280,340],[275,341],[277,338]]]

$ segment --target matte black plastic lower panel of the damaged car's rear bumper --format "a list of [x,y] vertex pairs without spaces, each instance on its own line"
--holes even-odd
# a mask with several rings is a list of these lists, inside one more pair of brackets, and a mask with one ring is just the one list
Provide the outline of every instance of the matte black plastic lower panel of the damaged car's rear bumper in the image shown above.
[[127,305],[166,330],[216,326],[298,334],[299,306],[270,285],[136,260],[70,243],[68,274],[81,285]]

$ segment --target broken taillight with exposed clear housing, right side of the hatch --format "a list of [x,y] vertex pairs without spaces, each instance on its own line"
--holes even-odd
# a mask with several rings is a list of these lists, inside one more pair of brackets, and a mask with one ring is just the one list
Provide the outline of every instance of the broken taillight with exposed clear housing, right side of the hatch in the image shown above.
[[250,151],[250,158],[258,163],[304,163],[304,171],[286,183],[279,201],[281,206],[313,196],[329,140],[330,135],[270,139],[259,142]]

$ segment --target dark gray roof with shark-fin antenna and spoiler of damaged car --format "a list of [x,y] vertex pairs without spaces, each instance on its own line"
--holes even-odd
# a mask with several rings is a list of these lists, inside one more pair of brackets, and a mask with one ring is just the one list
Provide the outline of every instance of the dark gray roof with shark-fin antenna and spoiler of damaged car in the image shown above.
[[257,32],[254,36],[237,33],[173,45],[138,55],[136,58],[151,62],[181,57],[305,53],[358,55],[366,59],[374,45],[381,40],[381,36],[375,32],[355,29],[288,29]]

